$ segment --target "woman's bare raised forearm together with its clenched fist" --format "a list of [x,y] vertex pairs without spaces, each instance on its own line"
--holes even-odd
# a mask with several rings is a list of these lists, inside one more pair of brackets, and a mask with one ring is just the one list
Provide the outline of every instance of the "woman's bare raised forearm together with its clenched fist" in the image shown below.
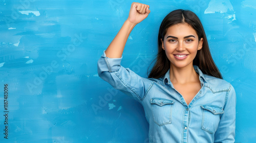
[[125,43],[133,28],[150,13],[150,6],[140,3],[132,3],[129,17],[123,23],[120,31],[105,51],[106,57],[121,58]]

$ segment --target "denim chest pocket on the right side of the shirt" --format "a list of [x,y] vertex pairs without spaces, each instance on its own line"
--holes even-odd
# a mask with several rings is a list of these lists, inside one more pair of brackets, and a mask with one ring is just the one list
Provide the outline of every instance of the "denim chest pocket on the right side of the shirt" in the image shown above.
[[201,105],[202,108],[202,126],[201,129],[213,134],[218,129],[220,115],[224,110],[215,105]]

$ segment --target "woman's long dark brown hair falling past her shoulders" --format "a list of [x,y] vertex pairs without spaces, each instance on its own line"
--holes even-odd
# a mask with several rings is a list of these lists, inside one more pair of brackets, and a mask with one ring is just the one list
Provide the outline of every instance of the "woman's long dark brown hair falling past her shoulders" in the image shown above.
[[203,47],[197,52],[197,55],[193,60],[193,65],[197,65],[204,74],[222,79],[221,73],[211,57],[209,45],[200,19],[194,12],[182,9],[174,10],[167,14],[160,25],[158,33],[158,54],[155,59],[156,63],[150,71],[148,78],[161,78],[170,68],[170,61],[168,60],[165,51],[162,49],[161,39],[164,39],[167,29],[170,26],[178,23],[188,23],[188,25],[193,27],[196,31],[198,40],[203,38]]

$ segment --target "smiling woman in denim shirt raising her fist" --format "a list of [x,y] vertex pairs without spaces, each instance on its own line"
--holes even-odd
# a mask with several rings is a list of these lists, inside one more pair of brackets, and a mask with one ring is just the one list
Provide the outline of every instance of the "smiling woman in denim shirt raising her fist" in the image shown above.
[[162,21],[158,56],[148,78],[120,66],[132,29],[150,13],[133,3],[98,61],[98,75],[142,104],[150,142],[234,142],[236,93],[211,58],[197,15],[175,10]]

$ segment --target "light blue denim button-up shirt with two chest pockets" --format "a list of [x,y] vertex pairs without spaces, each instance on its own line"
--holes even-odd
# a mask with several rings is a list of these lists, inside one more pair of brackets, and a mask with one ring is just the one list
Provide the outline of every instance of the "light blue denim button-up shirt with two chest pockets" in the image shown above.
[[150,142],[234,142],[236,93],[230,83],[194,66],[201,89],[187,105],[170,82],[169,70],[159,79],[143,78],[122,67],[121,59],[103,52],[98,75],[141,103]]

